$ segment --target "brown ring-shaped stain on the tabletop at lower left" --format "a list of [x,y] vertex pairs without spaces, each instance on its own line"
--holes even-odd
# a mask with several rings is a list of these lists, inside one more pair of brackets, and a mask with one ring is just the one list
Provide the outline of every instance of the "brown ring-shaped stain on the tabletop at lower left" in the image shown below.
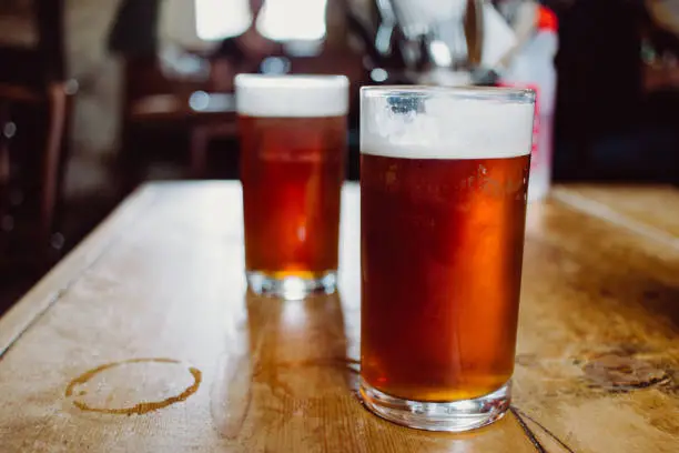
[[[78,387],[79,385],[83,385],[88,383],[95,375],[98,375],[99,373],[103,371],[111,370],[111,369],[126,365],[126,364],[133,364],[133,363],[170,363],[170,364],[184,365],[183,362],[179,360],[162,359],[162,358],[161,359],[130,359],[130,360],[124,360],[120,362],[107,363],[107,364],[97,366],[79,375],[78,378],[73,379],[65,389],[65,396],[67,397],[72,397],[73,395],[82,396],[87,392],[84,391],[75,392],[75,387]],[[149,412],[158,411],[160,409],[166,407],[174,403],[185,401],[189,396],[191,396],[199,390],[201,385],[201,381],[202,381],[201,371],[193,366],[186,365],[186,368],[188,368],[189,373],[191,373],[191,376],[193,378],[193,383],[189,385],[188,387],[185,387],[178,395],[165,397],[160,401],[141,401],[129,407],[95,407],[95,406],[91,406],[78,400],[73,400],[73,405],[87,412],[97,412],[97,413],[102,413],[102,414],[116,414],[116,415],[132,415],[132,414],[142,415]]]

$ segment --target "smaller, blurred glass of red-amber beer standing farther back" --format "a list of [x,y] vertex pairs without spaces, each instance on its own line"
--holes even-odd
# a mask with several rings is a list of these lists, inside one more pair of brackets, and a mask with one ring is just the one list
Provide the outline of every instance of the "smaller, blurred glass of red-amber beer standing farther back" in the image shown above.
[[241,74],[235,92],[247,283],[285,299],[332,293],[348,81]]

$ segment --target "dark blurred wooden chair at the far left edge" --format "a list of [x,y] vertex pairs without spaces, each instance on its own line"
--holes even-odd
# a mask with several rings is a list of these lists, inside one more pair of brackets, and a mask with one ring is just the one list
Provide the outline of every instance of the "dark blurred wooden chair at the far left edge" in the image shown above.
[[43,266],[63,243],[54,234],[77,91],[65,76],[64,0],[32,0],[6,23],[16,29],[0,30],[0,251]]

